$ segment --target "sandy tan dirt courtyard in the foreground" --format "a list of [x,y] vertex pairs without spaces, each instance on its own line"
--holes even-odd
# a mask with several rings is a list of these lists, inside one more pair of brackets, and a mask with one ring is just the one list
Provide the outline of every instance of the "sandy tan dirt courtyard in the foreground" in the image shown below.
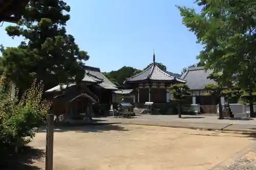
[[[30,145],[45,149],[45,138],[40,132]],[[250,139],[243,134],[138,125],[57,129],[53,164],[62,170],[206,170],[248,148],[254,142]],[[43,168],[44,159],[33,165]]]

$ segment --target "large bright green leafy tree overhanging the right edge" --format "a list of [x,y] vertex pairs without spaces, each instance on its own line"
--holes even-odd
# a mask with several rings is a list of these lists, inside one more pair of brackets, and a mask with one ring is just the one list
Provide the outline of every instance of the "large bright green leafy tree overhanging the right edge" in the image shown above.
[[204,45],[199,59],[206,68],[222,72],[219,81],[232,80],[248,91],[253,115],[253,89],[256,80],[256,4],[251,0],[197,0],[201,13],[178,7],[183,24]]

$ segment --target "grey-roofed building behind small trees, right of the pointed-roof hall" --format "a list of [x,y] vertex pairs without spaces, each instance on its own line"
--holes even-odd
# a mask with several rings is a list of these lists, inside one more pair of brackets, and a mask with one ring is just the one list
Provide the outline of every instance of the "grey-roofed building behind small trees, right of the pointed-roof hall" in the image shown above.
[[[191,104],[199,104],[202,113],[216,113],[219,99],[217,96],[205,95],[210,90],[205,89],[207,84],[217,84],[216,81],[208,79],[212,74],[212,69],[204,67],[186,68],[186,71],[181,76],[181,79],[186,80],[186,85],[191,91]],[[224,103],[224,98],[221,98]]]

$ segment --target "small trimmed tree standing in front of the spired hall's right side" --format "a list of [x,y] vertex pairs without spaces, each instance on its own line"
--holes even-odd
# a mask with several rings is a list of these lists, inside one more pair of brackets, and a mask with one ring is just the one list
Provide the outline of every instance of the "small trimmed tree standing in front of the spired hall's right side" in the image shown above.
[[190,95],[188,92],[189,88],[186,84],[173,84],[170,86],[170,93],[174,96],[172,101],[176,102],[178,105],[178,116],[181,118],[182,107],[187,104],[187,96]]

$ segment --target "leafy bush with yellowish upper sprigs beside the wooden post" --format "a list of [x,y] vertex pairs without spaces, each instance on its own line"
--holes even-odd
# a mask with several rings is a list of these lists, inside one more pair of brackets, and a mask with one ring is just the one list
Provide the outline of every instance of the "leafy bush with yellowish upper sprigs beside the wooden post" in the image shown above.
[[20,101],[11,99],[10,86],[2,82],[3,79],[0,81],[0,153],[6,158],[15,148],[28,144],[37,128],[45,124],[50,103],[42,99],[42,82],[35,80]]

